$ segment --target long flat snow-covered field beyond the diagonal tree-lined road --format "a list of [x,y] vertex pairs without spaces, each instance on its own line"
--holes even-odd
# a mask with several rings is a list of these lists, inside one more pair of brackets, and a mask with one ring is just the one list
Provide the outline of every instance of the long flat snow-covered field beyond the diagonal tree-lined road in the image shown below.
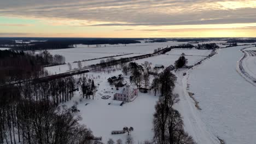
[[[147,54],[153,53],[155,49],[165,48],[179,44],[187,44],[188,42],[167,41],[164,43],[141,43],[137,44],[116,44],[116,45],[76,45],[71,49],[49,50],[52,55],[59,54],[66,57],[66,62],[82,61],[83,59],[100,58],[106,56],[122,55],[124,53]],[[216,41],[206,41],[205,43],[216,43]],[[197,45],[197,44],[196,44]],[[193,50],[192,50],[193,51]],[[202,50],[204,51],[204,50]],[[206,50],[207,51],[207,50]],[[177,50],[177,52],[179,52]],[[172,52],[171,52],[172,53]],[[185,51],[185,54],[187,52]],[[178,53],[181,55],[181,53]]]

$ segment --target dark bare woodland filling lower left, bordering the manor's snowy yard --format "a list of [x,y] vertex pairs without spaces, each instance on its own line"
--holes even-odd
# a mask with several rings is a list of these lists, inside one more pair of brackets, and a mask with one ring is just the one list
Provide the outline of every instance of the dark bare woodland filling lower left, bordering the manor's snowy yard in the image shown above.
[[[41,83],[24,82],[0,88],[0,143],[92,143],[95,137],[73,117],[74,109],[57,107],[74,96],[77,87],[84,92],[82,77],[54,79]],[[87,88],[87,87],[86,87]],[[86,89],[87,90],[87,89]],[[72,107],[73,108],[73,107]],[[79,111],[79,110],[77,110]]]

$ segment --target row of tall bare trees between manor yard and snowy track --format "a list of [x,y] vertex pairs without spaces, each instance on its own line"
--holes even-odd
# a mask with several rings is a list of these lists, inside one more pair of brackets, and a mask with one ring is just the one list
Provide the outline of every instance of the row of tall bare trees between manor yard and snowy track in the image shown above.
[[[173,105],[179,101],[178,95],[173,94],[176,76],[169,70],[164,70],[155,79],[154,81],[157,83],[155,87],[156,90],[159,89],[161,92],[161,97],[155,105],[153,143],[196,143],[193,137],[184,131],[181,114],[173,109]],[[155,84],[152,85],[154,86]]]

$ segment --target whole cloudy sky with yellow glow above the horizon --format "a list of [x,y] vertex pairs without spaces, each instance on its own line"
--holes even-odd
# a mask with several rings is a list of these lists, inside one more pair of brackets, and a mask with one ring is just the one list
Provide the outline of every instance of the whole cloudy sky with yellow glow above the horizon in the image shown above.
[[1,0],[0,37],[256,37],[256,1]]

